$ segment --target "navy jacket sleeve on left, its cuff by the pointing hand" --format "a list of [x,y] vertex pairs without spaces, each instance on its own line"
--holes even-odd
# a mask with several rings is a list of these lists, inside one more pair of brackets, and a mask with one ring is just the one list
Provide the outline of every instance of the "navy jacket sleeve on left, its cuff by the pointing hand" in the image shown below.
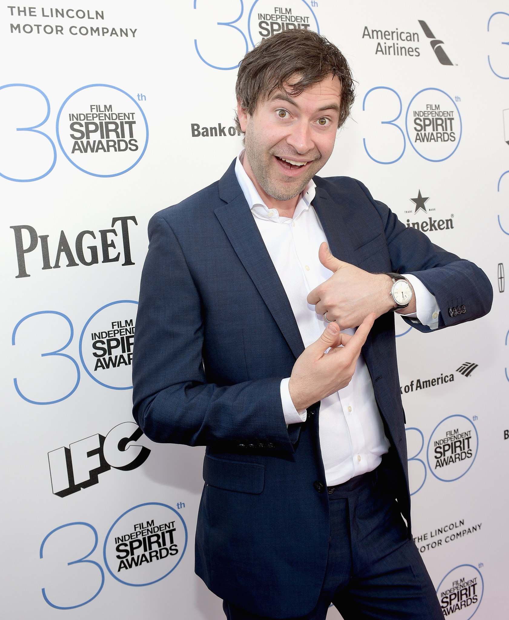
[[281,378],[206,383],[200,293],[166,219],[154,216],[148,233],[133,350],[136,422],[161,443],[254,444],[293,453],[293,427],[300,425],[286,428]]

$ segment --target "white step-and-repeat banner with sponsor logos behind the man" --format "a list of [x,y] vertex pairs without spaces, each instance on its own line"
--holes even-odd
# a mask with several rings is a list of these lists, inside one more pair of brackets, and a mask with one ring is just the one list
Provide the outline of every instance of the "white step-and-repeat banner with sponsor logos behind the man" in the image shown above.
[[223,618],[193,571],[204,449],[131,416],[139,277],[149,218],[241,148],[239,60],[285,29],[327,36],[355,76],[322,174],[492,281],[489,316],[396,332],[415,543],[444,616],[502,618],[507,2],[33,1],[0,9],[2,618]]

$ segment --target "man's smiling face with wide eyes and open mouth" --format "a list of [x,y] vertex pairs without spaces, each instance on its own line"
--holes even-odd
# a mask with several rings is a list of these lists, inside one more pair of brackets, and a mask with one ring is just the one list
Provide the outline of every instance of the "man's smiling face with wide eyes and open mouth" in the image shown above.
[[238,106],[247,161],[268,195],[291,200],[325,166],[334,149],[340,101],[340,81],[328,76],[296,97],[273,92],[252,116]]

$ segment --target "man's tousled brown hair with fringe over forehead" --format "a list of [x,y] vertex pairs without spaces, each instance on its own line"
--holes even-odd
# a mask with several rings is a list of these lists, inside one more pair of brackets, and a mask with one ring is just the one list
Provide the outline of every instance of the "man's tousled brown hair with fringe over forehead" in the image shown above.
[[[283,30],[248,51],[239,66],[235,94],[242,108],[253,115],[259,101],[267,100],[274,91],[297,97],[331,74],[341,82],[340,127],[355,98],[352,72],[334,43],[312,30]],[[290,83],[294,76],[298,81]],[[237,115],[235,124],[237,131],[242,131]]]

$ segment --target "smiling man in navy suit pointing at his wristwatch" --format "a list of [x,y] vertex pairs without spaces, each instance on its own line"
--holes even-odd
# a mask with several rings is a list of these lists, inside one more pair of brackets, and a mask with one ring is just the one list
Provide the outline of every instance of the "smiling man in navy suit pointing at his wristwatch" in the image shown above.
[[196,572],[229,620],[323,620],[331,601],[345,620],[438,620],[392,311],[430,332],[489,312],[492,288],[360,182],[316,176],[353,102],[325,38],[264,40],[236,94],[246,150],[149,224],[135,419],[207,446]]

